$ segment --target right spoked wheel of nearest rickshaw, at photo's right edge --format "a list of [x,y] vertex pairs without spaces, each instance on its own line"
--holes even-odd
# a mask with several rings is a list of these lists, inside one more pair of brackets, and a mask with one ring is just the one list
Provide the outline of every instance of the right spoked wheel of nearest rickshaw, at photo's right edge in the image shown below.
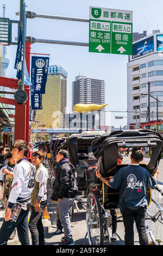
[[152,190],[151,204],[147,208],[147,217],[152,220],[149,235],[154,245],[163,245],[163,183]]

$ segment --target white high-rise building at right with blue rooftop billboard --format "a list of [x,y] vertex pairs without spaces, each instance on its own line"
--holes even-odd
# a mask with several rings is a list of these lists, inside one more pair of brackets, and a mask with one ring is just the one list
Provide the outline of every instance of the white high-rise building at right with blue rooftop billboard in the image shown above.
[[149,119],[156,121],[156,97],[159,100],[158,117],[163,119],[162,51],[163,33],[158,30],[133,43],[133,55],[129,56],[127,64],[128,129],[139,128]]

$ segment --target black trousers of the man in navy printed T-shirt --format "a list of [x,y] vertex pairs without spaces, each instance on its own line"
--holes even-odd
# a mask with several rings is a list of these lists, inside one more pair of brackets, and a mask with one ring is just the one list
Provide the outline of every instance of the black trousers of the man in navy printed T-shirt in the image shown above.
[[134,221],[139,234],[140,245],[148,245],[148,235],[145,225],[146,208],[141,207],[137,210],[126,208],[122,214],[124,223],[124,243],[125,245],[134,245]]

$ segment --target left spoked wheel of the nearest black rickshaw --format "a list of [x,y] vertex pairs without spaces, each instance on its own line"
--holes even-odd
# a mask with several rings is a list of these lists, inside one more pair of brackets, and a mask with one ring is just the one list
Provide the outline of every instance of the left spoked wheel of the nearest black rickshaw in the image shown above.
[[95,191],[90,191],[86,203],[86,224],[90,245],[103,245],[103,218]]

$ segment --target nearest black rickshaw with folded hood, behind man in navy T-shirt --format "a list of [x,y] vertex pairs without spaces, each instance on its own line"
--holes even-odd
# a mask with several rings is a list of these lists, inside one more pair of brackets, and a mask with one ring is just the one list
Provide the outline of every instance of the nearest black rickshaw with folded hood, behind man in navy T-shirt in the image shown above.
[[[120,148],[149,148],[151,159],[148,164],[141,162],[151,175],[159,166],[163,151],[163,139],[156,131],[151,130],[120,130],[113,131],[92,141],[93,155],[98,159],[97,169],[105,179],[110,179],[120,168],[128,164],[117,164],[117,155]],[[94,173],[94,175],[96,175]],[[163,245],[163,183],[157,182],[155,189],[147,187],[148,208],[146,224],[149,239],[152,244]],[[86,225],[90,245],[103,245],[104,229],[108,233],[112,226],[110,209],[115,209],[116,222],[123,222],[119,207],[119,190],[96,180],[89,185],[86,202]]]

